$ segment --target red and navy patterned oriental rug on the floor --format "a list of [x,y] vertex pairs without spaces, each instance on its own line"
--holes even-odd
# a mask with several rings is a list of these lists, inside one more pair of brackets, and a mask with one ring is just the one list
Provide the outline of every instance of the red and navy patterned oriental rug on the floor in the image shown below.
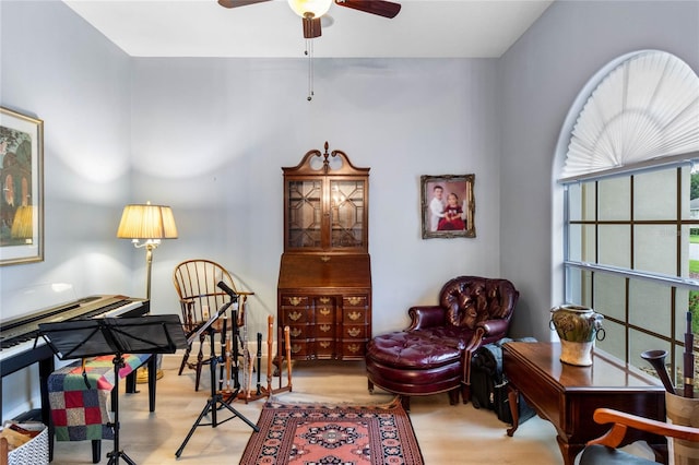
[[346,406],[268,402],[240,464],[423,465],[400,401]]

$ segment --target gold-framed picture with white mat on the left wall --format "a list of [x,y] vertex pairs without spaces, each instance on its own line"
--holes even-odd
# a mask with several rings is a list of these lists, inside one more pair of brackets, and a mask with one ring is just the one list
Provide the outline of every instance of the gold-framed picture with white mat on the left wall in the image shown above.
[[44,121],[0,107],[0,265],[44,260]]

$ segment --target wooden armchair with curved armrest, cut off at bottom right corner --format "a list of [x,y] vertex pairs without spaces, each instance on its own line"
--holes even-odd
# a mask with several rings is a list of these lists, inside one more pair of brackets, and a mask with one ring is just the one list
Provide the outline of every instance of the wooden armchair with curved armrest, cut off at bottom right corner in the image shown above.
[[[660,434],[670,439],[699,442],[699,428],[651,420],[611,408],[597,408],[593,418],[599,424],[612,424],[612,429],[604,436],[589,441],[580,455],[579,465],[649,465],[663,463],[664,457],[655,452],[656,462],[616,449],[621,444],[629,430],[638,430]],[[694,462],[692,462],[694,463]]]

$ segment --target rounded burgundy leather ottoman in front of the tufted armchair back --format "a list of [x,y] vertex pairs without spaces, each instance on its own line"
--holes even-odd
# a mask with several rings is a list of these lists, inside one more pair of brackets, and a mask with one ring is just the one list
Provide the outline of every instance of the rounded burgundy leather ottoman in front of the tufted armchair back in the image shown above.
[[463,379],[462,346],[419,330],[376,336],[367,344],[369,391],[376,385],[400,394],[406,410],[410,396],[440,392],[448,392],[450,404],[455,405]]

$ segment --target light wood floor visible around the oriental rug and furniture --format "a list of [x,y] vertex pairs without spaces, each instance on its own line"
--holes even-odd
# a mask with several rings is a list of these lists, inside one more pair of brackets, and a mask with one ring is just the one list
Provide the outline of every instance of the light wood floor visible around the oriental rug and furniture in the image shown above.
[[[181,456],[176,458],[175,452],[211,394],[209,369],[202,377],[200,391],[194,392],[193,371],[188,370],[178,377],[179,361],[177,355],[163,357],[164,377],[157,382],[155,413],[149,413],[146,384],[139,384],[141,392],[138,394],[120,394],[120,449],[141,465],[239,463],[252,433],[240,418],[233,418],[216,428],[196,428]],[[364,362],[297,362],[293,369],[293,392],[280,394],[279,400],[351,404],[391,401],[393,397],[388,393],[368,393],[364,370]],[[264,365],[262,371],[262,385],[265,386]],[[286,378],[283,379],[285,383]],[[273,388],[277,385],[279,378],[274,378]],[[235,402],[233,406],[256,424],[263,402]],[[218,421],[228,416],[227,410],[221,410]],[[475,409],[471,404],[451,406],[447,394],[413,397],[410,416],[427,465],[562,464],[554,427],[537,417],[521,425],[514,437],[509,438],[507,425],[499,421],[495,413]],[[209,421],[210,417],[203,420]],[[107,463],[106,453],[112,448],[112,441],[103,441],[100,463]],[[90,463],[90,441],[56,443],[52,464]],[[122,460],[120,463],[126,462]]]

